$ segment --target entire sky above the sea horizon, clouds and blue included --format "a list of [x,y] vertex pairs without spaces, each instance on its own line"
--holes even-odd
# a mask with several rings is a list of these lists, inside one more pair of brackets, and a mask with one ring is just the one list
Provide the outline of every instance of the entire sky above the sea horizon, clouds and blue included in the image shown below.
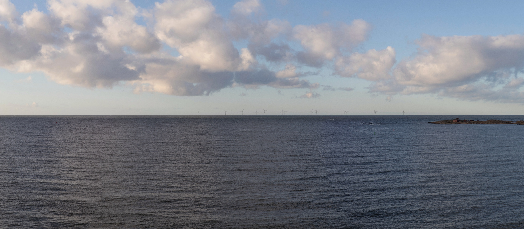
[[521,8],[0,0],[0,115],[521,115]]

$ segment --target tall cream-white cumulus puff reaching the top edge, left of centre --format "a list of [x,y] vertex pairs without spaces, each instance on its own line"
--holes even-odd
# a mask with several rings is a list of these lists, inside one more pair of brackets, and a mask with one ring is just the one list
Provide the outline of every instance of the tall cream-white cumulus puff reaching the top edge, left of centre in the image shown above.
[[155,31],[160,40],[211,72],[234,71],[242,62],[223,30],[215,7],[203,0],[171,0],[156,3]]

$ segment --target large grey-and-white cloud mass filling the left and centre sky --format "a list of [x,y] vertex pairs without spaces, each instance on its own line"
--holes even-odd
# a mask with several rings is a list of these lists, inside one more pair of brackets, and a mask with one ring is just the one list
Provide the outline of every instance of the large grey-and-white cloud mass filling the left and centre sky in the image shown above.
[[[204,0],[167,0],[147,10],[125,0],[47,4],[47,14],[36,8],[19,14],[11,2],[0,1],[0,66],[41,71],[59,84],[127,84],[136,93],[179,96],[210,95],[232,86],[319,86],[301,79],[310,73],[300,72],[294,64],[297,51],[285,43],[293,34],[289,22],[260,20],[256,14],[263,8],[257,0],[235,4],[230,19]],[[137,18],[148,24],[139,25]],[[341,32],[358,37],[367,31],[350,27]],[[319,41],[304,36],[297,36],[307,42],[304,53],[323,56],[310,49]],[[329,52],[362,41],[355,39],[334,41]],[[247,41],[247,47],[237,49],[233,42],[239,40]]]

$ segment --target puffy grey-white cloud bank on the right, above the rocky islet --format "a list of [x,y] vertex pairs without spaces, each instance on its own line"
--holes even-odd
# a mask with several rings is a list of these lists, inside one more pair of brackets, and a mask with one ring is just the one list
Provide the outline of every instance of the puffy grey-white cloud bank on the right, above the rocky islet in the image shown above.
[[370,50],[369,55],[354,54],[359,61],[352,66],[359,67],[346,67],[346,72],[374,81],[374,93],[524,103],[519,90],[524,85],[524,36],[423,35],[417,44],[413,58],[389,70],[385,66],[391,65],[391,52]]

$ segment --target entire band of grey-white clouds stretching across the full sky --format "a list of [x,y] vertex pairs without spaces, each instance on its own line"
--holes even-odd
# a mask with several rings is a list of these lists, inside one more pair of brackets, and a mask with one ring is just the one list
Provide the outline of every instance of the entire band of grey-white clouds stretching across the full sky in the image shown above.
[[365,79],[370,93],[389,100],[435,94],[524,103],[522,35],[422,35],[418,52],[397,61],[392,47],[355,52],[372,30],[362,19],[292,26],[263,20],[258,0],[237,2],[228,18],[205,0],[166,0],[148,9],[125,0],[49,0],[47,9],[19,13],[0,0],[1,67],[40,71],[59,84],[124,84],[135,93],[177,96],[227,87],[309,89],[302,98],[320,97],[313,90],[321,86],[353,90],[303,78],[329,70]]

